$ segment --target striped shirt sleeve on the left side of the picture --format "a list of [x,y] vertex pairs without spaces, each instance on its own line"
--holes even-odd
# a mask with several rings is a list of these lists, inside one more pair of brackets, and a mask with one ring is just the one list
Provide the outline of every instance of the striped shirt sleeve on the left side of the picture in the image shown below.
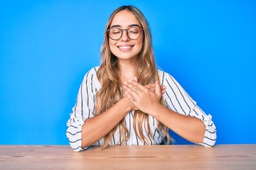
[[85,148],[82,148],[82,125],[87,118],[94,116],[95,110],[95,93],[97,91],[93,79],[96,78],[96,69],[91,69],[82,81],[80,89],[78,91],[77,100],[75,106],[70,113],[66,131],[70,147],[79,152]]

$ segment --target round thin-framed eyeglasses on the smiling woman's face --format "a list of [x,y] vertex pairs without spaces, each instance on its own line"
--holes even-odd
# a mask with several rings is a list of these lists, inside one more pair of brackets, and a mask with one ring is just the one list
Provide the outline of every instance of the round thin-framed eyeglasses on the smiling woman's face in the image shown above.
[[129,29],[121,29],[121,28],[110,28],[107,30],[107,34],[110,36],[112,40],[119,40],[122,37],[123,32],[127,32],[127,36],[132,39],[136,40],[142,34],[143,29],[139,27],[131,27]]

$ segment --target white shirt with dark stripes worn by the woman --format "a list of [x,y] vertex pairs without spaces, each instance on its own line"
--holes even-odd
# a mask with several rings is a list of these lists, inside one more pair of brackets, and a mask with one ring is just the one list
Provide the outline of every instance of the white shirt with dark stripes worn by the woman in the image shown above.
[[[92,118],[95,115],[95,94],[101,88],[101,84],[97,79],[97,69],[99,67],[94,67],[90,69],[82,81],[80,89],[78,91],[77,101],[73,107],[73,113],[70,113],[70,119],[68,120],[68,130],[66,135],[70,142],[70,146],[76,152],[84,149],[82,148],[82,125],[85,123],[87,118]],[[166,92],[163,95],[166,107],[170,108],[177,113],[183,115],[194,116],[203,121],[206,125],[206,132],[203,143],[198,145],[212,147],[216,141],[216,129],[213,121],[211,120],[211,115],[206,115],[201,108],[196,105],[196,101],[188,96],[186,91],[181,87],[178,82],[171,77],[170,74],[158,70],[161,85],[166,86]],[[127,129],[129,130],[129,140],[125,145],[145,145],[144,142],[139,140],[135,135],[134,128],[132,126],[134,118],[134,111],[127,113],[125,116],[125,123]],[[159,145],[162,142],[162,135],[157,130],[157,120],[149,115],[149,125],[153,140],[148,137],[146,129],[143,128],[144,136],[150,142],[150,145]],[[110,145],[116,145],[119,143],[119,128],[114,132],[112,137],[112,142]],[[94,145],[102,145],[103,138],[97,141]]]

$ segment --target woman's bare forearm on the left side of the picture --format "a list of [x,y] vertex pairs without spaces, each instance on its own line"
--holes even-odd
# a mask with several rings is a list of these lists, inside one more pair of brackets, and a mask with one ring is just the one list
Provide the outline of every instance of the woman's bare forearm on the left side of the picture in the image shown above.
[[114,106],[82,125],[82,148],[89,147],[107,135],[131,111],[128,98],[122,98]]

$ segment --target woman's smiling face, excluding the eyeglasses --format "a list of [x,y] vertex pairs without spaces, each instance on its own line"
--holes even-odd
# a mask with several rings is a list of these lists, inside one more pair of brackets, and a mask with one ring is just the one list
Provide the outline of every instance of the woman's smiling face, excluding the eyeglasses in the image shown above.
[[[134,13],[128,10],[119,11],[113,18],[110,28],[142,28],[141,23],[134,16]],[[121,60],[132,60],[136,61],[139,52],[142,51],[143,45],[143,33],[136,40],[132,40],[127,36],[127,32],[122,33],[121,38],[118,40],[110,40],[110,50],[113,55],[115,55],[119,61]]]

